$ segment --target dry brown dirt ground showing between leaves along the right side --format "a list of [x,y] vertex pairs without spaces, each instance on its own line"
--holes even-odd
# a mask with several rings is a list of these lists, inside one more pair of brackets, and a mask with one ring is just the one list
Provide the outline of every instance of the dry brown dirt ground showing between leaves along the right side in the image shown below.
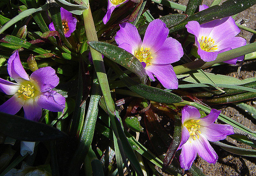
[[[183,5],[187,5],[188,0],[172,0],[176,3],[180,3]],[[210,5],[213,0],[204,0],[203,4]],[[153,4],[152,4],[153,5]],[[157,15],[163,16],[166,15],[164,13],[171,12],[172,9],[166,8],[164,6],[155,4],[158,12],[153,12],[153,16]],[[251,8],[247,9],[244,12],[238,14],[235,20],[238,19],[247,19],[248,22],[246,23],[247,27],[256,29],[256,5],[252,6]],[[163,14],[162,14],[163,13]],[[255,35],[252,33],[241,30],[239,36],[242,36],[246,39],[247,44],[255,42]],[[256,77],[256,69],[255,69],[256,61],[246,61],[242,65],[240,75],[237,74],[238,66],[231,66],[231,65],[221,65],[216,66],[211,69],[212,73],[218,73],[228,76],[234,76],[239,79],[245,79],[249,77]],[[250,100],[246,102],[247,104],[255,107],[255,100]],[[256,120],[252,118],[252,116],[247,115],[244,110],[237,108],[235,105],[226,105],[222,108],[222,114],[236,120],[237,122],[243,124],[244,126],[250,128],[253,131],[256,131]],[[232,138],[228,137],[227,142],[230,145],[234,145],[241,148],[250,148],[255,149],[250,146],[247,146],[241,142],[233,140]],[[215,151],[217,152],[219,159],[216,164],[208,164],[202,158],[197,157],[195,163],[199,166],[205,175],[207,176],[254,176],[256,175],[256,158],[253,157],[244,157],[235,154],[231,154],[219,146],[212,145]]]

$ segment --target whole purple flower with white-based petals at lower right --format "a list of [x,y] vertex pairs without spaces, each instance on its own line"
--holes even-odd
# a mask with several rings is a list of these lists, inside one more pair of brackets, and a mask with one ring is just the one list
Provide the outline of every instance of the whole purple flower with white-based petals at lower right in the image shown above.
[[186,105],[182,108],[180,166],[188,170],[196,159],[196,153],[208,163],[215,164],[218,156],[209,141],[223,140],[234,134],[233,127],[228,124],[214,124],[220,111],[212,109],[208,116],[200,118],[197,108]]

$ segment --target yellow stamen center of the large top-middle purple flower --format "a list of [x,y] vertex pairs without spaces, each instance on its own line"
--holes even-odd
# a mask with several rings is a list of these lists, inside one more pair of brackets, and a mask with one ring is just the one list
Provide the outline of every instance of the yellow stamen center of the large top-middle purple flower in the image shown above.
[[140,60],[140,62],[144,62],[146,64],[146,66],[149,66],[149,65],[152,65],[152,63],[150,62],[151,59],[154,59],[153,56],[151,56],[151,53],[150,52],[150,48],[143,48],[143,47],[140,47],[140,50],[139,52],[137,50],[135,50],[134,52],[134,56]]

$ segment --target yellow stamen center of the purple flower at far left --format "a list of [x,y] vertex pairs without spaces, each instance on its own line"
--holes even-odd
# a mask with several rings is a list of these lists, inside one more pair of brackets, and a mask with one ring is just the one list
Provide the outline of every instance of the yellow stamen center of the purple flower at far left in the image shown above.
[[37,90],[37,86],[33,84],[33,80],[26,81],[21,84],[20,89],[18,90],[18,93],[20,94],[18,98],[23,97],[24,100],[28,100],[32,97],[36,97],[39,94],[39,91]]

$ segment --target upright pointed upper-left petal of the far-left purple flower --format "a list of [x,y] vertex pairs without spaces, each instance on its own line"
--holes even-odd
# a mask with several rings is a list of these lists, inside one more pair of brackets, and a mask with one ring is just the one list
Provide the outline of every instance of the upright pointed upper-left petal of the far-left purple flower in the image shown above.
[[16,50],[8,60],[7,70],[9,75],[17,82],[23,82],[29,80],[28,74],[24,70],[20,62],[20,56],[18,50]]

